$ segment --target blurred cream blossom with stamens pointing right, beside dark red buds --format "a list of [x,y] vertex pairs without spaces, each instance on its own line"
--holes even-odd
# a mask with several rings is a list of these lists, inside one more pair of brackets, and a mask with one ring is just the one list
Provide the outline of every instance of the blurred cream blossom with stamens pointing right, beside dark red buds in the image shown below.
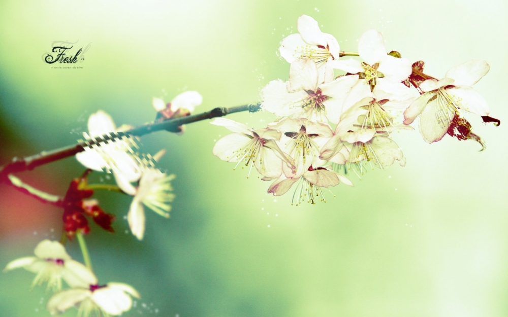
[[175,198],[175,195],[171,193],[173,187],[171,187],[170,182],[174,179],[174,174],[167,175],[156,168],[146,168],[143,170],[138,187],[134,187],[130,183],[118,182],[121,190],[134,196],[127,220],[132,233],[138,239],[143,239],[145,233],[143,205],[146,205],[155,213],[169,218],[169,211],[171,210],[169,203]]

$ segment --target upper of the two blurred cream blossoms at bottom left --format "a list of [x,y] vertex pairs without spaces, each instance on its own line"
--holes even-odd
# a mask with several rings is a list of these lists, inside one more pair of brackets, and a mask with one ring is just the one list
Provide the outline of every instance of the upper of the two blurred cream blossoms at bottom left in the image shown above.
[[37,273],[31,287],[48,281],[48,289],[53,291],[61,290],[62,278],[67,284],[75,285],[83,283],[90,275],[83,264],[71,259],[60,242],[42,240],[36,246],[34,253],[35,257],[19,258],[10,262],[4,272],[23,267]]

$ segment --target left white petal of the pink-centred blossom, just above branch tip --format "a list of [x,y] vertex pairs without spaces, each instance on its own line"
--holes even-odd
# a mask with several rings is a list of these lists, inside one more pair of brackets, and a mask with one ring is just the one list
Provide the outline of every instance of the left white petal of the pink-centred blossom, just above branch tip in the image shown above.
[[279,117],[291,116],[295,113],[295,108],[301,108],[302,100],[308,94],[301,90],[289,93],[287,84],[280,80],[272,80],[261,91],[262,107]]

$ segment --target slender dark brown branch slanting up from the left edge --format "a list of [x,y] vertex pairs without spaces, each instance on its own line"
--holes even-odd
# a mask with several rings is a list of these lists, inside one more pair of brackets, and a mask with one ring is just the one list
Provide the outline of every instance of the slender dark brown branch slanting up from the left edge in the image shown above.
[[66,157],[74,156],[79,152],[83,152],[86,148],[93,145],[99,145],[108,140],[117,139],[122,135],[133,135],[133,136],[141,136],[148,133],[152,133],[160,130],[168,130],[171,128],[176,128],[181,126],[182,124],[189,124],[193,122],[198,122],[206,119],[212,119],[216,117],[223,117],[236,112],[257,112],[261,107],[261,104],[246,104],[239,105],[237,107],[231,108],[215,108],[208,112],[204,112],[197,115],[182,117],[178,119],[170,119],[163,122],[157,123],[148,123],[145,125],[138,126],[129,131],[125,132],[115,132],[104,134],[100,137],[96,137],[93,140],[87,140],[86,142],[79,142],[78,144],[68,146],[65,148],[60,148],[52,151],[43,151],[39,154],[35,154],[32,156],[27,156],[24,158],[14,157],[12,161],[8,164],[0,166],[0,181],[4,181],[7,183],[11,183],[8,175],[10,173],[21,172],[25,170],[32,170],[37,166],[41,166],[47,163],[51,163],[54,161],[61,160]]

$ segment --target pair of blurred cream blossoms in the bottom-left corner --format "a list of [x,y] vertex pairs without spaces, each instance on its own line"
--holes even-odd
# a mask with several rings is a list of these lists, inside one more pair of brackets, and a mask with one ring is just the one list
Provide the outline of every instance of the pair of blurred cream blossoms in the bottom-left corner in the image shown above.
[[[16,259],[7,264],[4,271],[25,268],[37,273],[34,285],[48,281],[48,289],[55,293],[49,298],[47,309],[59,314],[77,306],[78,316],[120,315],[132,307],[132,298],[139,298],[138,292],[127,284],[108,283],[99,285],[97,277],[83,264],[72,260],[63,245],[57,241],[43,240],[34,251],[35,257]],[[70,287],[62,289],[61,280]]]

